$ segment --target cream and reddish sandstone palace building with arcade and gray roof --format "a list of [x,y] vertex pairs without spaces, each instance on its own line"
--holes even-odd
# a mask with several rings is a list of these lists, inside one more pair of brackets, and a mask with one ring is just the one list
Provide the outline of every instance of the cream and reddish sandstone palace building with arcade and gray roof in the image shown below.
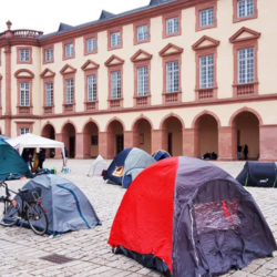
[[[70,157],[153,153],[277,161],[277,1],[151,0],[58,31],[0,33],[0,134]],[[72,14],[73,16],[73,14]]]

